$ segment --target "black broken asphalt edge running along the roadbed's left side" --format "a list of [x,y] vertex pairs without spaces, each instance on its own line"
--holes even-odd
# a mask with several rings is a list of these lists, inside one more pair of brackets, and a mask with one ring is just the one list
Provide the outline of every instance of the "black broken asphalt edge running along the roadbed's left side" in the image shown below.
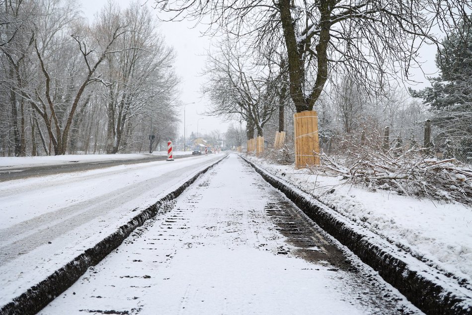
[[111,251],[116,249],[136,228],[142,226],[147,220],[156,216],[157,211],[160,209],[162,204],[177,198],[198,177],[227,157],[228,155],[205,167],[177,189],[159,199],[155,204],[141,211],[138,215],[133,217],[133,219],[119,227],[117,231],[103,238],[95,246],[86,249],[83,253],[76,256],[62,268],[56,270],[45,280],[32,286],[26,290],[26,292],[14,298],[13,301],[2,306],[0,314],[29,315],[41,311],[52,300],[71,287],[89,267],[95,266]]

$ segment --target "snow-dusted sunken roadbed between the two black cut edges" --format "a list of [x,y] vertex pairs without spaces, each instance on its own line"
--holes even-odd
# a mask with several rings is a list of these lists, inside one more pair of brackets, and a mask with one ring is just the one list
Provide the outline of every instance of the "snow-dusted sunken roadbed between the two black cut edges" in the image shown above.
[[235,155],[164,208],[41,314],[420,313]]

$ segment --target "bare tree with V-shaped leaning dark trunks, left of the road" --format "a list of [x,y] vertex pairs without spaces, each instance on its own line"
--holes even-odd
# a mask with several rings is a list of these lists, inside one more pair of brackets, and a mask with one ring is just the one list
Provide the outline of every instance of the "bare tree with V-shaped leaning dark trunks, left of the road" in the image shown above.
[[[66,153],[86,87],[100,80],[95,76],[98,66],[106,55],[113,53],[113,42],[127,30],[118,26],[107,38],[105,47],[97,52],[88,29],[80,25],[75,2],[40,1],[38,16],[41,18],[34,25],[31,44],[39,75],[21,91],[21,97],[42,118],[54,153],[61,155]],[[67,35],[69,32],[73,35]]]

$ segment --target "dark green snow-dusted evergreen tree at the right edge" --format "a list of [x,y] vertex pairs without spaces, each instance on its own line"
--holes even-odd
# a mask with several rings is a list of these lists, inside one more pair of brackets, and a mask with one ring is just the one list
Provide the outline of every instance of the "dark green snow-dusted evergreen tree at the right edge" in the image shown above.
[[472,161],[472,15],[467,16],[442,41],[436,55],[440,70],[437,78],[429,78],[430,87],[415,91],[431,106],[432,123],[439,127],[435,142],[446,147],[446,140],[456,144],[456,158]]

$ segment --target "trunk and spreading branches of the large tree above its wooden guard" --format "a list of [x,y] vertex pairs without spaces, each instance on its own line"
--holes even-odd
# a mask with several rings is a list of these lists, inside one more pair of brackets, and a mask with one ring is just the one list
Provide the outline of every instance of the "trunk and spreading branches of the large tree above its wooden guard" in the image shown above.
[[156,8],[210,19],[209,31],[244,38],[254,51],[284,47],[290,94],[298,112],[312,110],[330,77],[358,72],[381,90],[397,72],[407,78],[425,41],[437,44],[432,28],[448,31],[472,8],[463,0],[155,0]]

